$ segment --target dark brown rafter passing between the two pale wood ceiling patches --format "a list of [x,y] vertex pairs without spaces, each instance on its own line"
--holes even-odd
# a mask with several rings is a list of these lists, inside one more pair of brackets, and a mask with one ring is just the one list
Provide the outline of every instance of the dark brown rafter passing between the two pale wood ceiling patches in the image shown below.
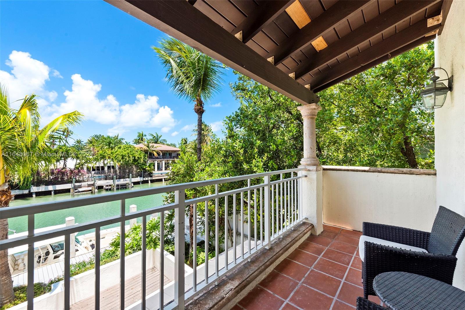
[[326,31],[345,21],[353,13],[361,10],[369,4],[370,1],[371,0],[339,0],[298,32],[281,42],[279,46],[276,46],[274,50],[266,55],[266,58],[274,56],[274,64],[279,65],[281,62],[291,57],[292,54],[311,44],[323,33],[326,33]]

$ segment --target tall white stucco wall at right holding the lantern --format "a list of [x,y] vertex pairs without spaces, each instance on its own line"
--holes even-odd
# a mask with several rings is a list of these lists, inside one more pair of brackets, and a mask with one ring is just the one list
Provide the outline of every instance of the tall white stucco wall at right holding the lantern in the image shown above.
[[[435,40],[436,67],[454,76],[452,92],[435,110],[437,204],[465,216],[465,1],[453,1]],[[443,79],[445,73],[437,71]],[[458,250],[453,284],[465,290],[465,245]]]

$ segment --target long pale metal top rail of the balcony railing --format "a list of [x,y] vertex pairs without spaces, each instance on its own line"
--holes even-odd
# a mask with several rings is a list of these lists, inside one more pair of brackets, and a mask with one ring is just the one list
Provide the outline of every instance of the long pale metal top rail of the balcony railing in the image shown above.
[[141,197],[141,196],[166,193],[170,191],[180,191],[180,190],[186,190],[186,189],[193,188],[193,187],[204,187],[204,186],[209,186],[209,185],[237,182],[237,181],[247,180],[250,178],[263,178],[265,176],[272,176],[276,174],[296,172],[296,171],[302,171],[302,170],[303,168],[293,168],[293,169],[286,169],[286,170],[247,174],[247,175],[236,176],[236,177],[218,178],[218,179],[212,179],[212,180],[206,180],[206,181],[188,182],[188,183],[160,186],[160,187],[155,187],[155,188],[146,188],[146,189],[140,189],[140,190],[110,193],[110,194],[91,196],[91,197],[72,198],[72,199],[40,203],[40,204],[28,204],[28,205],[22,205],[22,206],[17,206],[17,207],[6,207],[6,208],[1,208],[0,219],[15,218],[15,217],[23,216],[23,215],[69,209],[69,208],[81,207],[81,206],[89,205],[89,204],[100,204],[100,203],[109,202],[109,201],[136,198],[136,197]]

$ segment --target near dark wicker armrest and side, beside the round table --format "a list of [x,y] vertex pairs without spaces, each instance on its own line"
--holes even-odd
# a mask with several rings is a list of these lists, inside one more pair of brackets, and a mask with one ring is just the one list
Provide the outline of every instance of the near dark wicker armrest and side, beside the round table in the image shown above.
[[374,295],[373,279],[388,271],[405,271],[452,284],[457,257],[409,251],[365,242],[363,289],[365,297]]

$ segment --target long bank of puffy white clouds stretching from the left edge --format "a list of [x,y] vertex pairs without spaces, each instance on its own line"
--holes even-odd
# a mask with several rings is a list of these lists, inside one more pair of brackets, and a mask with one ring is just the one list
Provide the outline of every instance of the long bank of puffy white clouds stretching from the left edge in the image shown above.
[[[84,79],[77,73],[71,76],[71,90],[63,93],[65,100],[51,105],[49,102],[57,99],[58,93],[46,90],[46,81],[50,76],[63,78],[58,70],[33,59],[30,53],[18,51],[9,55],[6,64],[12,70],[11,73],[0,71],[0,83],[8,86],[11,101],[36,93],[41,97],[38,101],[44,122],[63,113],[79,111],[85,119],[113,125],[108,129],[108,134],[122,133],[133,128],[160,128],[161,132],[169,132],[177,124],[173,110],[168,106],[160,106],[157,96],[138,94],[133,104],[120,105],[113,94],[107,94],[101,99],[99,93],[102,85]],[[19,105],[13,104],[13,107]]]

